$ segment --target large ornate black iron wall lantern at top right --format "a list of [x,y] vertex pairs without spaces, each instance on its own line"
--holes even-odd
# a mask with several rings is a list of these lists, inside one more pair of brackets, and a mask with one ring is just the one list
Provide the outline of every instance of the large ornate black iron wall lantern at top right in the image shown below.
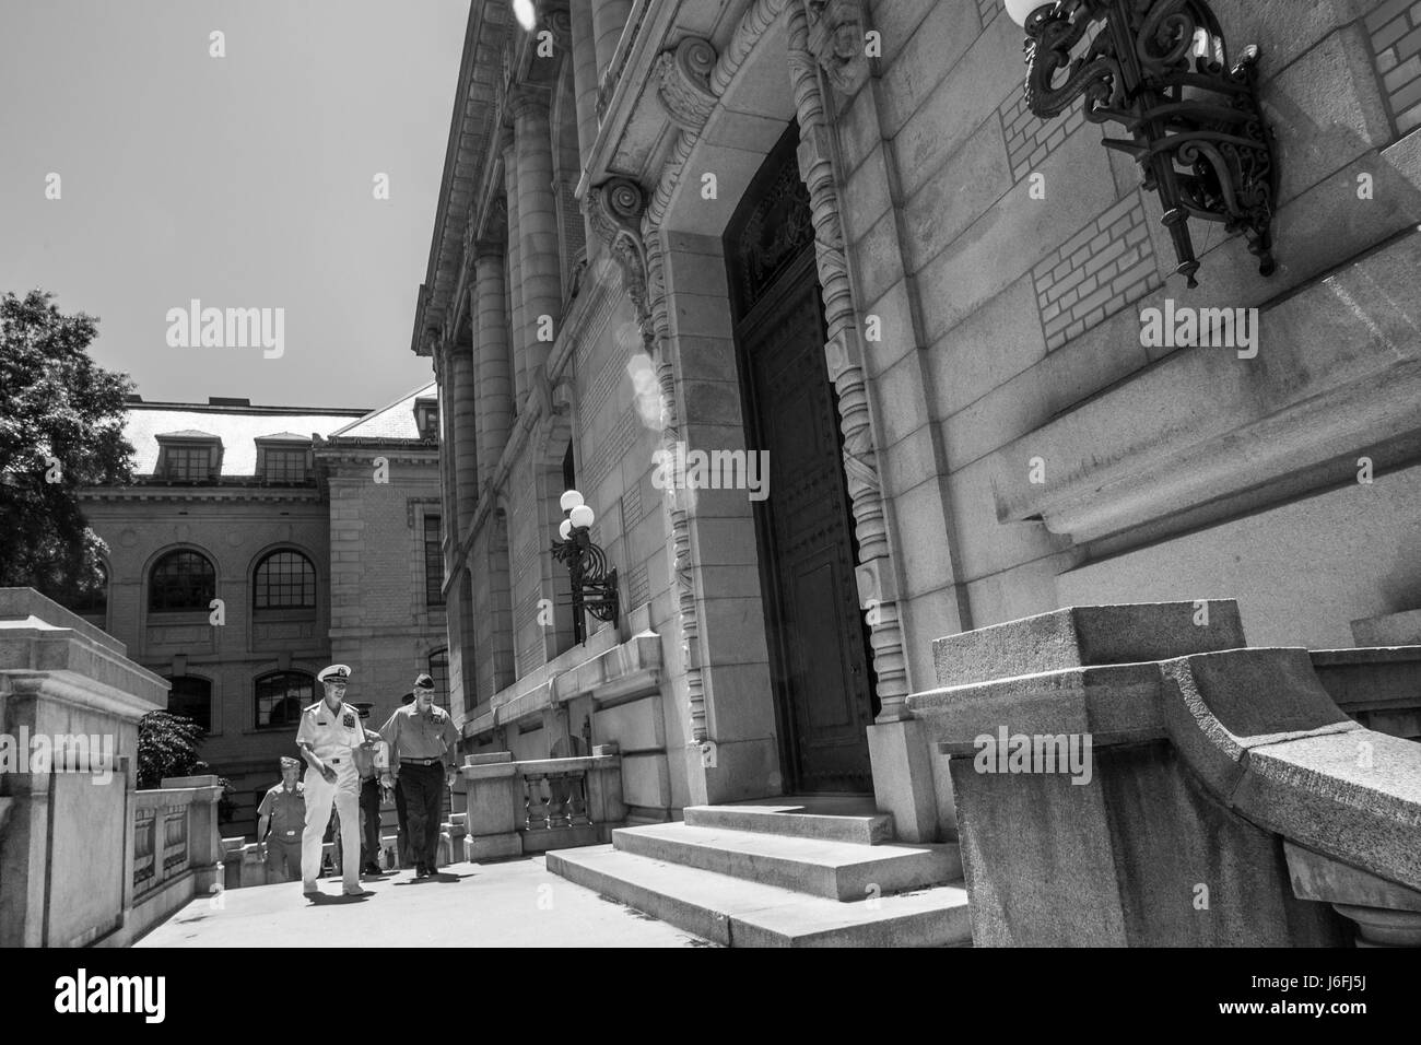
[[1199,218],[1248,236],[1259,273],[1270,276],[1277,161],[1258,104],[1258,47],[1229,65],[1223,30],[1205,0],[1005,4],[1026,30],[1027,108],[1050,119],[1084,95],[1087,119],[1114,121],[1133,135],[1106,145],[1134,156],[1144,186],[1160,196],[1175,272],[1198,286],[1189,219]]

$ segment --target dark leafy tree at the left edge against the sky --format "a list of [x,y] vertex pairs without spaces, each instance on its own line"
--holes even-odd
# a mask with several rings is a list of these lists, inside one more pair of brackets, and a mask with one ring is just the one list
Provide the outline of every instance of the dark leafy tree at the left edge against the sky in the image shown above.
[[0,587],[72,604],[101,583],[108,550],[78,491],[131,481],[124,397],[134,385],[90,358],[97,320],[64,316],[53,299],[0,299]]

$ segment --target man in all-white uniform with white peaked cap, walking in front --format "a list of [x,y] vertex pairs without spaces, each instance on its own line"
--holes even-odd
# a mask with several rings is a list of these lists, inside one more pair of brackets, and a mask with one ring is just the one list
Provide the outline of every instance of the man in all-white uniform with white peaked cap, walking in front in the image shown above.
[[301,883],[307,896],[318,894],[315,879],[321,873],[321,837],[331,819],[331,803],[341,818],[342,891],[364,896],[360,886],[360,773],[354,751],[365,744],[360,712],[345,702],[351,670],[331,664],[317,678],[325,695],[301,712],[296,745],[310,772],[306,773],[306,830],[301,832]]

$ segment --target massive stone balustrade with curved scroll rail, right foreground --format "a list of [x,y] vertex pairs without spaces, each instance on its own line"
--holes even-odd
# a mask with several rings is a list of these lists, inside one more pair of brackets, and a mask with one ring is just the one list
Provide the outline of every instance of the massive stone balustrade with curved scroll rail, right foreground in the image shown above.
[[1330,695],[1366,704],[1414,653],[1248,648],[1233,601],[939,640],[942,688],[908,704],[946,755],[973,941],[1421,944],[1421,746]]

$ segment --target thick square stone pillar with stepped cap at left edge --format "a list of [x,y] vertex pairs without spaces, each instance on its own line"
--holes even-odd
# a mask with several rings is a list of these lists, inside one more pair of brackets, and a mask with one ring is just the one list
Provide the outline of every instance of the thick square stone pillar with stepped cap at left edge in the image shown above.
[[[138,719],[166,707],[168,682],[126,653],[38,591],[0,587],[0,732],[21,752],[0,775],[0,947],[126,943],[146,928],[132,924]],[[55,752],[43,766],[28,759],[40,736]],[[179,903],[216,880],[212,823],[192,837],[207,866]]]

